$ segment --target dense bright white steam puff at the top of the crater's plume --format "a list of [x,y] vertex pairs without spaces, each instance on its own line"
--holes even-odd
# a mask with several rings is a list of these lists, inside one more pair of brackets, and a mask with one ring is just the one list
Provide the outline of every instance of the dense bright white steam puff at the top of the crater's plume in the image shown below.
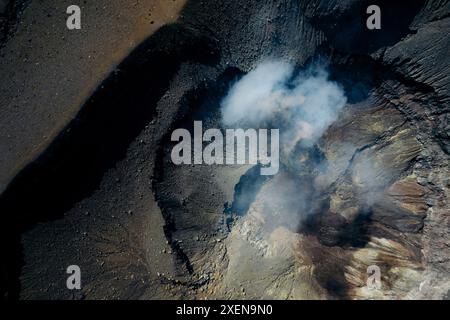
[[313,145],[346,104],[343,89],[320,67],[295,74],[292,64],[265,61],[242,77],[222,101],[225,126],[280,129],[281,151]]

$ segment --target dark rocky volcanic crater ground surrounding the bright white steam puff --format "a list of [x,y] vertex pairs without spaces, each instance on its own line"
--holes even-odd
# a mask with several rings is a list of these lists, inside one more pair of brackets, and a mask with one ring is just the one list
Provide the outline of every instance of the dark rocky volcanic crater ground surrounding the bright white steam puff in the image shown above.
[[[141,2],[67,30],[71,3],[0,0],[4,299],[449,298],[450,1]],[[274,176],[175,165],[172,132],[225,128],[264,61],[284,98],[326,70],[332,121]]]

